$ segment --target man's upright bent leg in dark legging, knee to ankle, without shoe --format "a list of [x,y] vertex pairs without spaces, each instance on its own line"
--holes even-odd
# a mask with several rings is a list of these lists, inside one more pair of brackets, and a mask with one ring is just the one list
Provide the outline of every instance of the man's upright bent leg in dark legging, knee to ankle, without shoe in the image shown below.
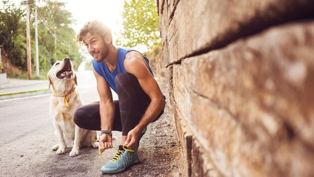
[[[120,73],[116,75],[115,86],[119,96],[122,123],[121,143],[123,145],[127,139],[128,132],[141,120],[142,115],[145,113],[150,103],[150,98],[141,88],[137,78],[130,73]],[[162,111],[154,121],[159,119],[163,113],[164,111]]]

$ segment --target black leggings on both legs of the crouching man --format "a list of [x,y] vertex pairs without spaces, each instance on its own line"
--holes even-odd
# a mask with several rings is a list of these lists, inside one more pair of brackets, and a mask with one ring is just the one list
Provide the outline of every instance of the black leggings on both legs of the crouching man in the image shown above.
[[[112,130],[122,131],[122,135],[127,135],[139,123],[150,103],[150,98],[141,88],[137,78],[130,73],[117,74],[115,86],[119,100],[114,101],[115,116]],[[164,110],[154,121],[163,113]],[[74,114],[74,123],[84,129],[101,130],[99,101],[78,108]]]

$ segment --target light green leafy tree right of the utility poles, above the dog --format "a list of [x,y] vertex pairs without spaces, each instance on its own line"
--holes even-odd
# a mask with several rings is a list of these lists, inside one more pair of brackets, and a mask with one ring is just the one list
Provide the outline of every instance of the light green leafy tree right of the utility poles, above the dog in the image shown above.
[[74,20],[72,14],[65,9],[65,3],[45,1],[43,6],[38,7],[37,13],[40,21],[38,46],[42,53],[40,62],[48,63],[50,67],[56,60],[70,57],[75,68],[78,67],[82,62],[82,56],[78,52],[75,31],[71,28]]

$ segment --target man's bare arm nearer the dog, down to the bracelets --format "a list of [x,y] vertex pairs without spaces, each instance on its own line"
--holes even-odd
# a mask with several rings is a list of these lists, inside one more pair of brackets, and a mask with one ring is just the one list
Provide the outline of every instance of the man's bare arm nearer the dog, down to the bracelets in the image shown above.
[[97,91],[100,98],[100,127],[101,130],[112,130],[114,120],[114,103],[109,85],[103,77],[101,77],[93,68],[94,75],[97,80]]

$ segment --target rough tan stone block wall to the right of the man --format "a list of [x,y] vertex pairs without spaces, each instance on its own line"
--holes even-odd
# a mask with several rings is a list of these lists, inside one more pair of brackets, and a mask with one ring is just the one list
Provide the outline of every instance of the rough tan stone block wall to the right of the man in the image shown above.
[[313,176],[314,1],[158,9],[186,176]]

